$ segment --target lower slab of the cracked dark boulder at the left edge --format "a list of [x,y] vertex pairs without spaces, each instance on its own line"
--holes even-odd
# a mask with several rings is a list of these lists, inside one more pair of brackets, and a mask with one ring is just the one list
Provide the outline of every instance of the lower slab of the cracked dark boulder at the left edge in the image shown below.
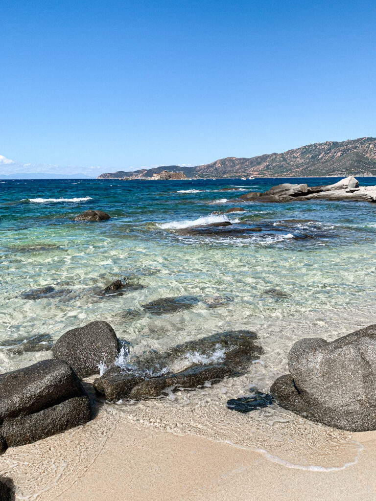
[[5,418],[1,432],[9,447],[41,440],[91,419],[89,398],[80,396],[34,414]]

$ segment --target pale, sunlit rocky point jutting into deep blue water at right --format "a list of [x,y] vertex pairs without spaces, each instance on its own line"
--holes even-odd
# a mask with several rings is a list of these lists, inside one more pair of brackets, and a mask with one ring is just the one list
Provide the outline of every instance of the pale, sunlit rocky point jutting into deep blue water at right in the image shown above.
[[304,200],[352,200],[376,201],[376,186],[359,186],[359,182],[348,176],[335,184],[308,186],[307,184],[284,183],[267,191],[251,191],[239,197],[242,201],[292,202]]

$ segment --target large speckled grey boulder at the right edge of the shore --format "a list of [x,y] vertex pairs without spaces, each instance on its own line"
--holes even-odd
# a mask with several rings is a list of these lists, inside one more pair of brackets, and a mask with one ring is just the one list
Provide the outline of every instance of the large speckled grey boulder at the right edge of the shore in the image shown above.
[[349,431],[376,429],[376,325],[328,343],[297,341],[271,393],[284,408]]

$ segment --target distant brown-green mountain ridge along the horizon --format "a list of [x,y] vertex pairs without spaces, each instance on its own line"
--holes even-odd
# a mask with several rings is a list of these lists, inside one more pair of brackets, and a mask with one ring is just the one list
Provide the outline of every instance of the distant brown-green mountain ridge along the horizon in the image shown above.
[[227,157],[196,167],[169,165],[136,171],[101,174],[98,179],[123,177],[147,179],[168,170],[187,177],[321,177],[376,176],[376,138],[362,137],[347,141],[325,141],[252,158]]

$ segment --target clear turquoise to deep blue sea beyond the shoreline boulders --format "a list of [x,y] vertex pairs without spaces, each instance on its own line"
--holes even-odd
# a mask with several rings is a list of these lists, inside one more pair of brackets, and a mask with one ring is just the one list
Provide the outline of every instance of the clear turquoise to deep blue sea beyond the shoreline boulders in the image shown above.
[[[2,181],[0,371],[51,356],[15,353],[10,348],[21,340],[50,335],[54,341],[93,320],[108,321],[133,353],[246,328],[258,333],[265,350],[255,378],[267,389],[300,337],[329,339],[376,320],[376,205],[232,199],[280,182],[337,180]],[[226,187],[235,189],[221,191]],[[231,206],[245,211],[223,215]],[[111,219],[72,220],[89,208]],[[190,234],[195,224],[221,220],[232,221],[237,232]],[[100,294],[123,277],[138,287],[122,296]],[[23,296],[46,286],[61,295]],[[198,302],[158,317],[142,309],[171,296]]]

